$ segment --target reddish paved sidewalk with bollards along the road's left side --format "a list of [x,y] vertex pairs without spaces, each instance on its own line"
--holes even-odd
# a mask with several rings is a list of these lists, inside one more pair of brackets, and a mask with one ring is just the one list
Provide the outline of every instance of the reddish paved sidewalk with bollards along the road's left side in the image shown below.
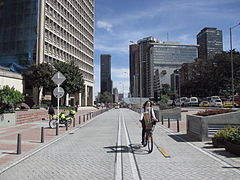
[[[87,116],[84,115],[90,112],[100,111],[96,108],[79,108],[75,115],[75,127],[82,125]],[[100,112],[99,112],[100,113]],[[96,113],[95,113],[96,115]],[[90,119],[90,115],[88,116]],[[44,143],[41,143],[41,127],[44,127]],[[73,123],[69,127],[69,131],[73,129]],[[22,158],[26,154],[34,151],[54,139],[67,133],[66,127],[60,125],[59,135],[56,136],[56,129],[49,127],[49,120],[43,118],[41,121],[35,121],[31,123],[20,124],[8,128],[0,129],[0,169],[7,164],[11,164],[13,161]],[[17,154],[17,135],[21,134],[21,154]]]

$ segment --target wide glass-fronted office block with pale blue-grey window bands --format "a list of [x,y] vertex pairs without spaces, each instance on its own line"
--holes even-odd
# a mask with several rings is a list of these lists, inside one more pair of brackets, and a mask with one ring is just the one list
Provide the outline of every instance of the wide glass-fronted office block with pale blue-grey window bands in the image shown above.
[[[149,84],[149,96],[162,91],[163,86],[171,88],[171,74],[183,63],[192,63],[198,57],[198,45],[176,42],[151,43],[150,62],[151,77],[155,82]],[[158,82],[160,81],[160,83]],[[155,86],[155,87],[154,87]]]

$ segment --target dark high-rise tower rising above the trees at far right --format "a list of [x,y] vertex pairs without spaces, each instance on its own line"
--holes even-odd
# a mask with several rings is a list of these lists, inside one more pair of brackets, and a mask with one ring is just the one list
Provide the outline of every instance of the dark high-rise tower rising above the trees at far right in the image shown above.
[[222,31],[217,28],[205,27],[197,35],[199,46],[198,56],[201,59],[212,59],[223,51]]

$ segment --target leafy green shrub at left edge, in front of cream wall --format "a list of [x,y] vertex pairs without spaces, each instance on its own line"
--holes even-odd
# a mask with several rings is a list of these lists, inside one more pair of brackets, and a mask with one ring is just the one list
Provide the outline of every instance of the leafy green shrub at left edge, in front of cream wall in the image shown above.
[[24,96],[13,87],[3,86],[0,89],[0,113],[13,112],[23,101]]

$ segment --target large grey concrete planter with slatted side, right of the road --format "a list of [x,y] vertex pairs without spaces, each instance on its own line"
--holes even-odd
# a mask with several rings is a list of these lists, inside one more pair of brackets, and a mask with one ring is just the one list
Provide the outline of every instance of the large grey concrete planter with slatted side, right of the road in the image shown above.
[[240,126],[240,112],[211,116],[187,115],[187,134],[200,141],[209,141],[217,130],[226,126]]

